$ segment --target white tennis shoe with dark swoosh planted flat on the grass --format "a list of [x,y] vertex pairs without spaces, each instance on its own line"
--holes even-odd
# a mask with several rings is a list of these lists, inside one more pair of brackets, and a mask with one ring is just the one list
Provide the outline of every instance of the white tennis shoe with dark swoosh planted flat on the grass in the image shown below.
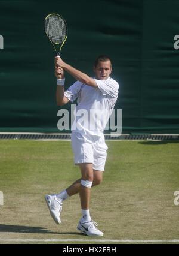
[[82,219],[80,219],[77,229],[81,231],[84,234],[87,234],[87,236],[103,236],[103,232],[98,230],[97,228],[98,224],[95,221],[89,221],[89,222],[82,222]]

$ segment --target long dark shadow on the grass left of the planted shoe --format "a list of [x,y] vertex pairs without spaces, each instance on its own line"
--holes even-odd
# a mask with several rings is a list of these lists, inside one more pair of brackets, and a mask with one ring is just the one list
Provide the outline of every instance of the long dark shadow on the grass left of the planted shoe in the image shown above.
[[29,226],[5,225],[5,224],[0,224],[0,233],[1,232],[31,233],[31,234],[74,234],[75,236],[76,235],[85,236],[85,234],[77,233],[77,232],[53,232],[43,227],[29,227]]

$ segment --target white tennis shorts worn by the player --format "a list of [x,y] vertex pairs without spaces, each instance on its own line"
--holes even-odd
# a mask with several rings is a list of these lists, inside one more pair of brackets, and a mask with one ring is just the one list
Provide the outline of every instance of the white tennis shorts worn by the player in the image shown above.
[[72,132],[71,138],[75,164],[91,163],[94,170],[104,171],[108,148],[104,135],[94,140],[87,139],[78,132]]

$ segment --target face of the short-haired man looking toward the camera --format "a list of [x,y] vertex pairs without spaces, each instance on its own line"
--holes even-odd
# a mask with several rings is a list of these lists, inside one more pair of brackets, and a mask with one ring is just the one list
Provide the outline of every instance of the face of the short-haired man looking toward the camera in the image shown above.
[[106,80],[112,72],[110,61],[100,61],[97,67],[94,67],[95,78],[98,80]]

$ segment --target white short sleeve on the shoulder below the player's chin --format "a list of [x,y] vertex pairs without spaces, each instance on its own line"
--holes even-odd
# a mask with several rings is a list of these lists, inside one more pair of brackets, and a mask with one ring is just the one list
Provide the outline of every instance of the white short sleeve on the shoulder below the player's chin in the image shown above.
[[115,98],[118,96],[119,84],[112,78],[106,80],[95,79],[98,88],[103,95],[108,95],[109,97]]

